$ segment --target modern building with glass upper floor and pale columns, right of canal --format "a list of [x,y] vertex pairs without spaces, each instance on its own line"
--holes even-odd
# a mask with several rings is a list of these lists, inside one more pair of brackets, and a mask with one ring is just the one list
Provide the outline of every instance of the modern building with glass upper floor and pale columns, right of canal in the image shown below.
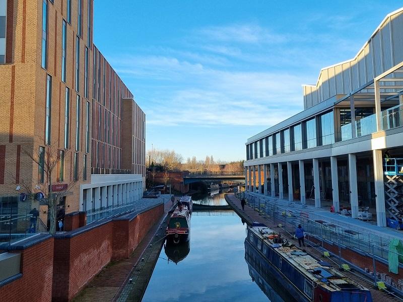
[[[304,110],[247,139],[249,191],[372,213],[379,226],[399,211],[385,164],[403,158],[403,9],[390,13],[357,55],[322,68],[303,86]],[[396,161],[395,174],[402,170]],[[390,168],[391,169],[391,168]],[[388,174],[388,173],[386,173]],[[402,195],[403,196],[403,195]]]

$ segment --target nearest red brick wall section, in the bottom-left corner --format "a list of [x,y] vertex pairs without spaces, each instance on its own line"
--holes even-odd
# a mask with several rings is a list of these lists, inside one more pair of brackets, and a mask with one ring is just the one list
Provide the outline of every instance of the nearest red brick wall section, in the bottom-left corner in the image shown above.
[[52,297],[53,238],[21,253],[22,277],[0,287],[0,302],[50,301]]

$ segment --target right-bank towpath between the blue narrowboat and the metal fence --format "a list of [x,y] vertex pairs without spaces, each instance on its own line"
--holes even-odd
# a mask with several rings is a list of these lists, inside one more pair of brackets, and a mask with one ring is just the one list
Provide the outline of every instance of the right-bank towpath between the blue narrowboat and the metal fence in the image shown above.
[[[269,226],[270,228],[273,228],[274,230],[276,230],[277,225],[279,223],[279,221],[274,221],[273,218],[265,218],[261,215],[259,215],[259,213],[257,211],[255,211],[254,209],[252,209],[251,207],[249,207],[248,205],[245,205],[245,209],[242,210],[241,207],[241,202],[238,198],[236,198],[234,196],[234,194],[226,194],[225,195],[225,199],[227,200],[228,204],[231,205],[235,212],[238,213],[238,215],[246,220],[248,223],[251,223],[252,221],[257,221],[260,223],[264,223],[267,226]],[[281,229],[277,228],[277,232],[281,232]],[[291,242],[293,242],[296,246],[298,246],[298,241],[295,240],[294,238],[292,238],[291,236],[289,236],[288,234],[284,234],[284,232],[281,232],[282,237],[286,237],[287,240],[290,240]],[[284,235],[283,235],[284,234]],[[319,252],[318,250],[312,248],[312,247],[307,247],[307,252],[312,254],[313,256],[315,256],[316,258],[321,257],[321,252]],[[354,272],[359,274],[358,272]],[[350,277],[351,279],[355,280],[356,282],[366,286],[368,289],[370,289],[371,291],[371,295],[372,295],[372,300],[373,301],[400,301],[395,297],[392,297],[388,294],[386,294],[385,292],[376,290],[373,288],[373,283],[371,282],[367,282],[362,278],[359,278],[357,276],[355,276],[352,273],[349,272],[344,272],[344,274],[346,274],[348,277]],[[359,274],[360,276],[362,276],[361,274]],[[368,277],[366,277],[366,279],[368,279]]]

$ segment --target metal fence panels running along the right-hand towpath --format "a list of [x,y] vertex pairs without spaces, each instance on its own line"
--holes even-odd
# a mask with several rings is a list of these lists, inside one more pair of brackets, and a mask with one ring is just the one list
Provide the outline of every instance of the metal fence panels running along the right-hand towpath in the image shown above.
[[331,222],[309,219],[307,213],[301,209],[290,210],[274,202],[267,201],[264,197],[255,196],[247,192],[236,193],[235,196],[245,198],[246,203],[263,217],[273,218],[276,224],[281,223],[281,228],[284,231],[294,234],[298,224],[301,224],[308,236],[308,241],[319,243],[322,250],[325,250],[324,246],[337,247],[338,252],[335,253],[335,256],[339,257],[340,265],[345,261],[343,259],[347,255],[347,250],[372,259],[367,267],[361,269],[372,277],[374,283],[381,280],[385,284],[403,292],[403,280],[400,280],[398,275],[389,275],[387,272],[380,273],[384,271],[385,265],[388,265],[391,255],[397,255],[399,266],[403,265],[403,261],[400,260],[403,259],[403,255],[389,249],[389,240],[373,234],[362,234],[349,230]]

